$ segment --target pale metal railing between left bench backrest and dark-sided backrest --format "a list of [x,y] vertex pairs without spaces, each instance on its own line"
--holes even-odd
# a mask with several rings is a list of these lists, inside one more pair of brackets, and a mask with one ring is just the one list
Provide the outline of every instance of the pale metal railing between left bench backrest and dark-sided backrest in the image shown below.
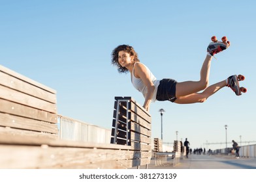
[[58,115],[59,139],[109,144],[110,129]]

